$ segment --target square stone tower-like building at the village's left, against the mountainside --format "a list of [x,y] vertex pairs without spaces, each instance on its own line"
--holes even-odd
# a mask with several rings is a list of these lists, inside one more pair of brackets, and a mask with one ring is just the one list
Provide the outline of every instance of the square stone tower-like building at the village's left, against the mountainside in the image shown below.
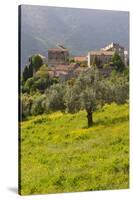
[[59,64],[67,64],[69,58],[68,49],[58,46],[58,48],[52,48],[48,50],[48,65],[54,66]]

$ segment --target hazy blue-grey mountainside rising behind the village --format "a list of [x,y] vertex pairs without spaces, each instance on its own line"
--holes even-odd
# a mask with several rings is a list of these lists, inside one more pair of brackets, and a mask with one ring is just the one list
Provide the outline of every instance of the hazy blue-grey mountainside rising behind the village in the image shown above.
[[57,43],[74,55],[87,55],[110,42],[129,46],[129,13],[23,5],[21,67],[32,54],[47,55]]

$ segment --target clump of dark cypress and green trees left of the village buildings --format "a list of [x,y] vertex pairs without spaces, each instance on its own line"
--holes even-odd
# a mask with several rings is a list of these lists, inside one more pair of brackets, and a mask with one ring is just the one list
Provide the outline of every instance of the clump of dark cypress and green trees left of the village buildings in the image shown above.
[[57,77],[49,76],[48,66],[43,63],[43,57],[38,54],[33,55],[29,58],[29,64],[25,66],[22,74],[21,92],[28,95],[44,93],[48,87],[58,82]]

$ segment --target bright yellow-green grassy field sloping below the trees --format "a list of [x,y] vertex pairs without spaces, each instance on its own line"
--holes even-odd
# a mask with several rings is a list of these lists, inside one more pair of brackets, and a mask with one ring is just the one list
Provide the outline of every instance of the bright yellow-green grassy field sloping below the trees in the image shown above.
[[31,117],[21,123],[22,195],[129,187],[128,105],[94,113]]

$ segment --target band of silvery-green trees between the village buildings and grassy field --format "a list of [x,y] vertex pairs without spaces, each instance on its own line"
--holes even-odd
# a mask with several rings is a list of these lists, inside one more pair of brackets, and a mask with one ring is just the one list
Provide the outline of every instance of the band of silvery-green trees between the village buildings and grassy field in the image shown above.
[[[74,113],[85,109],[88,126],[93,125],[94,111],[105,103],[125,103],[129,93],[128,78],[123,74],[112,73],[105,78],[97,69],[92,68],[81,73],[71,83],[69,80],[57,84],[50,79],[46,66],[40,67],[36,74],[25,82],[23,91],[27,93],[40,92],[39,97],[30,101],[30,104],[28,97],[24,101],[22,99],[25,112],[22,116],[24,118],[26,114],[27,116],[37,115],[59,110]],[[40,97],[41,94],[42,97]],[[31,97],[33,98],[33,95]]]

